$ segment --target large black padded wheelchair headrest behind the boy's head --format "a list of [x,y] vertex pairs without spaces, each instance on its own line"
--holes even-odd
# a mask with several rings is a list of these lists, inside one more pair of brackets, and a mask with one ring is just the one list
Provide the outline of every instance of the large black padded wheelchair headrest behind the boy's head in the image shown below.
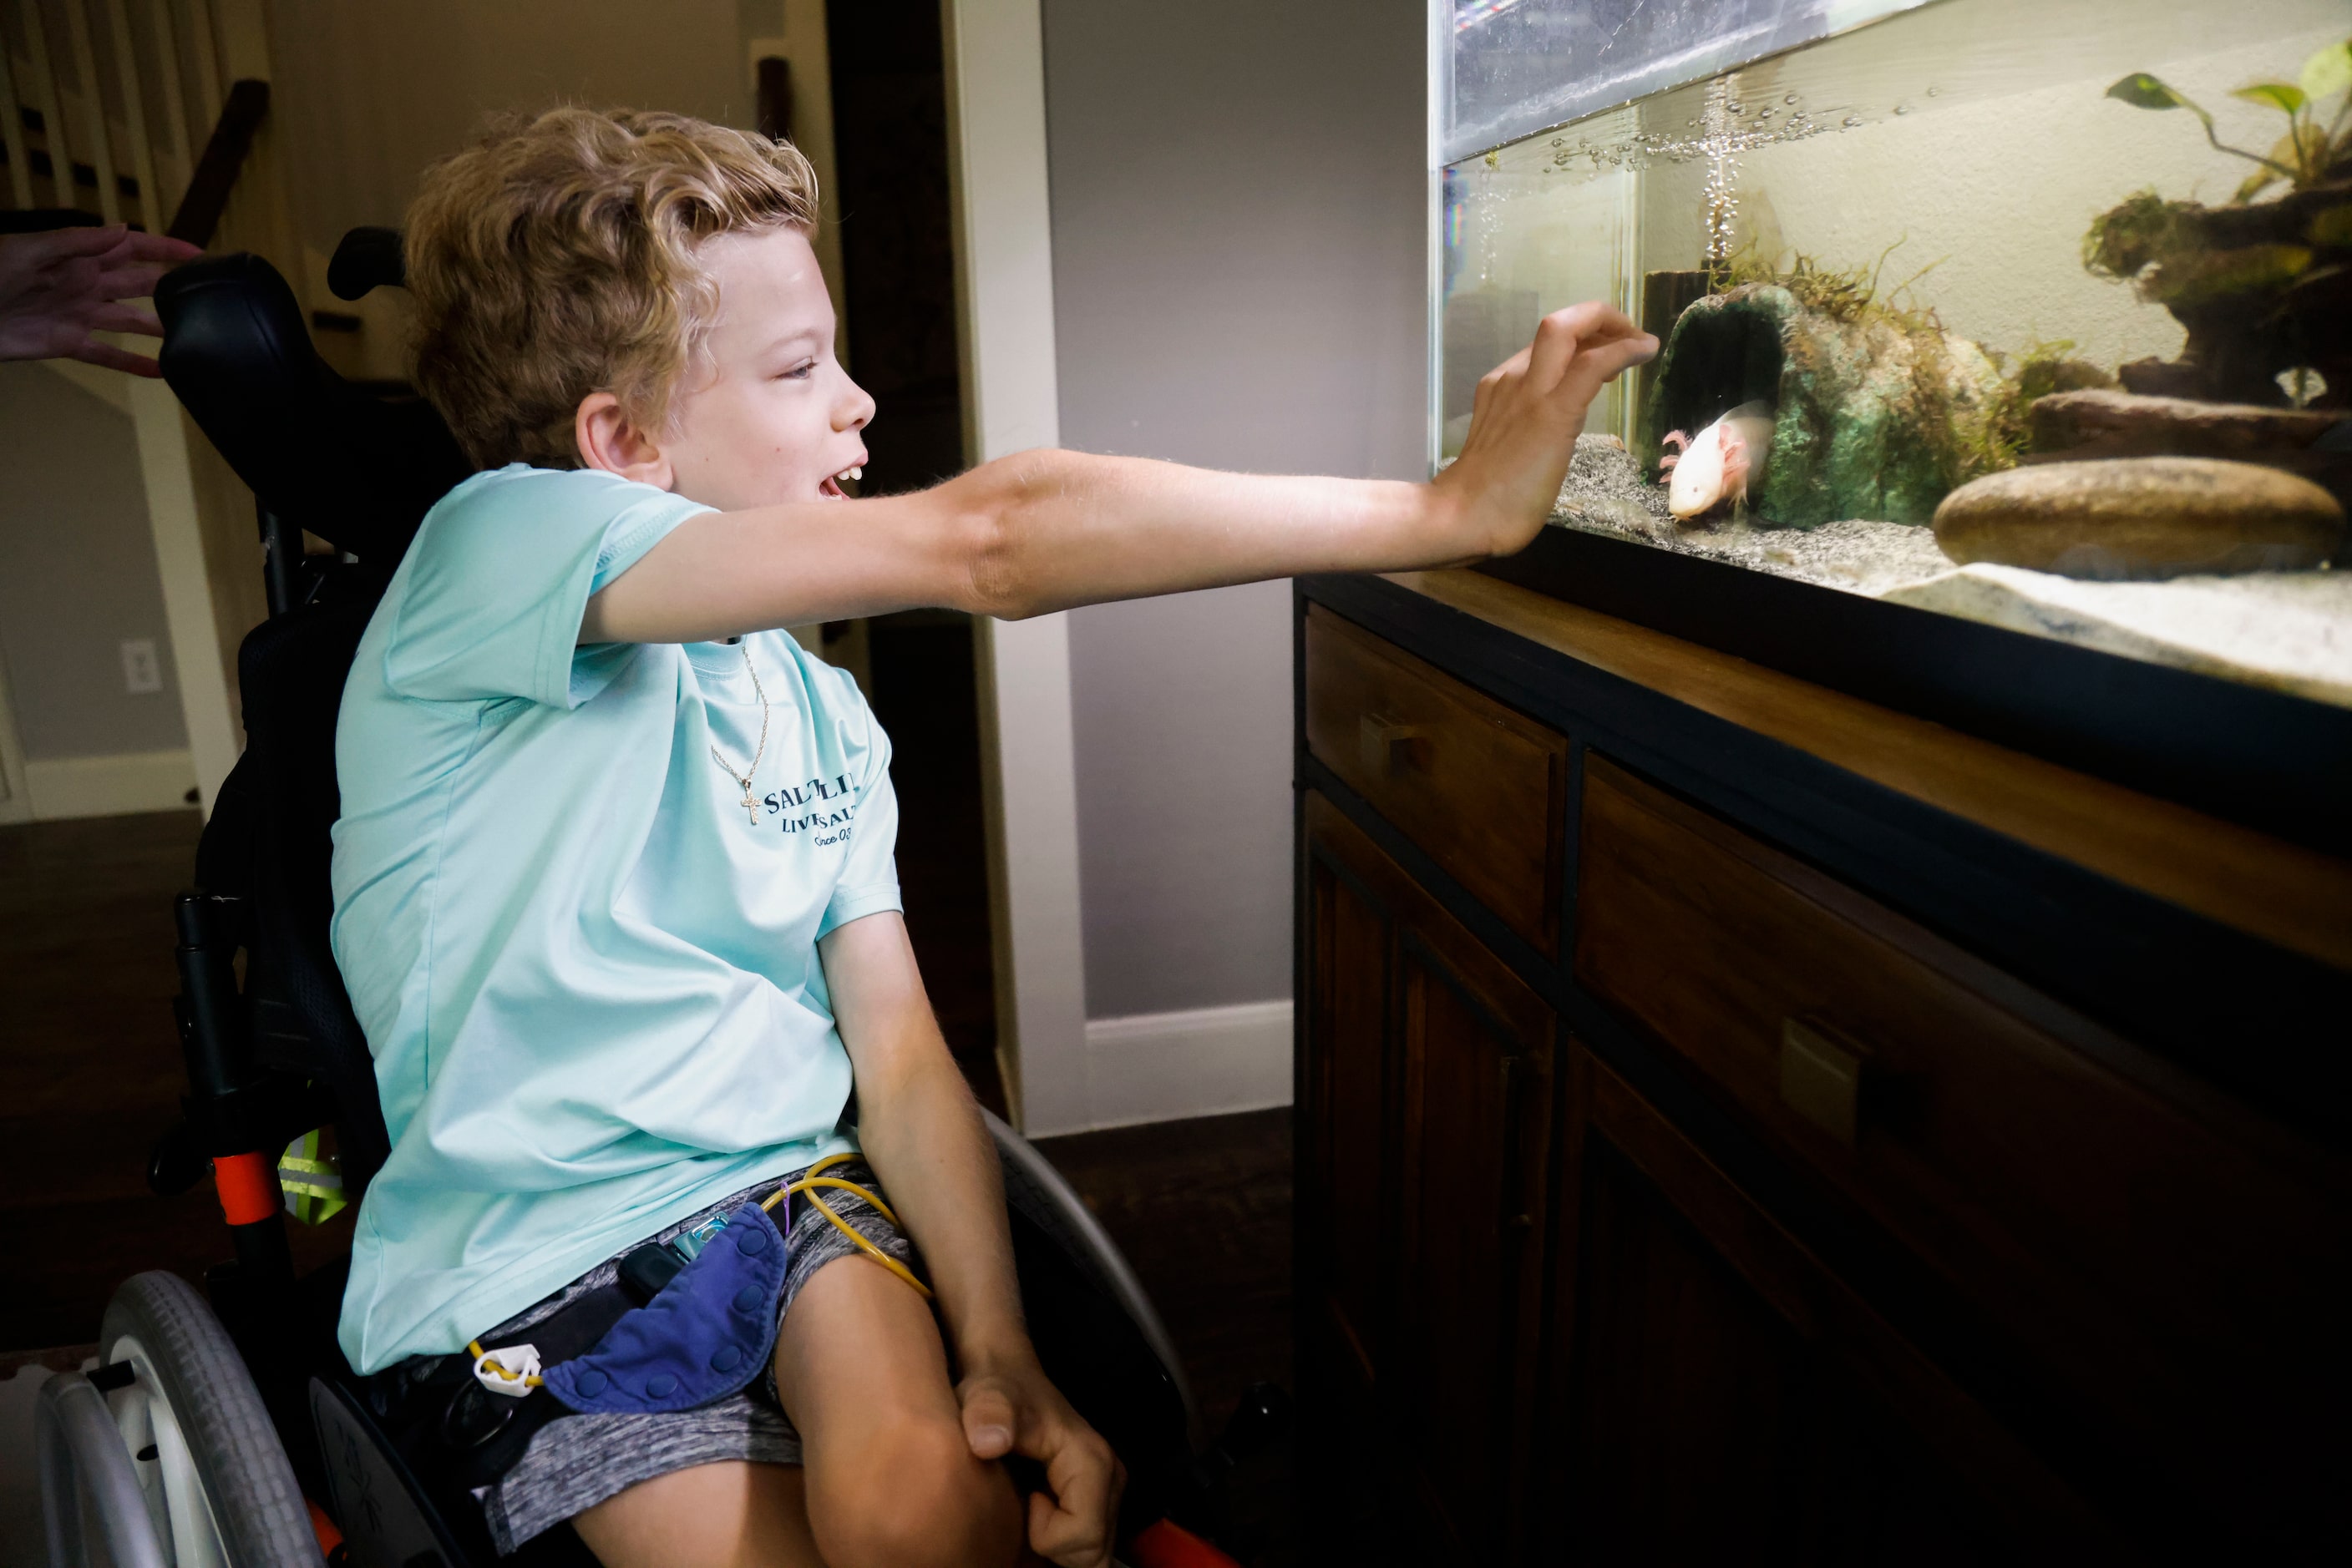
[[336,550],[397,564],[473,465],[430,404],[318,357],[294,289],[259,256],[205,256],[155,284],[162,376],[261,505]]

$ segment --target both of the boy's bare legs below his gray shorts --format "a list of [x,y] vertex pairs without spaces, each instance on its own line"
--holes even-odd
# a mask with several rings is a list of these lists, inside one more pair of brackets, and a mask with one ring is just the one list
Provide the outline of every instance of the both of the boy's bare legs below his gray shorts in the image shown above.
[[[783,1319],[776,1389],[807,1469],[696,1465],[572,1521],[604,1568],[955,1568],[1014,1563],[1021,1502],[971,1458],[948,1352],[920,1295],[842,1258]],[[821,1547],[818,1547],[821,1542]]]

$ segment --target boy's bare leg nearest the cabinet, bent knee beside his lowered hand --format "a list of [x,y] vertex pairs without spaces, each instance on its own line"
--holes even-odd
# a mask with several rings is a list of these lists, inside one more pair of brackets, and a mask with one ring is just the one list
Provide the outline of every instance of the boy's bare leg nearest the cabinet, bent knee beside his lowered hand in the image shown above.
[[776,1338],[828,1568],[983,1568],[1021,1552],[1021,1500],[971,1458],[931,1307],[866,1258],[818,1269]]

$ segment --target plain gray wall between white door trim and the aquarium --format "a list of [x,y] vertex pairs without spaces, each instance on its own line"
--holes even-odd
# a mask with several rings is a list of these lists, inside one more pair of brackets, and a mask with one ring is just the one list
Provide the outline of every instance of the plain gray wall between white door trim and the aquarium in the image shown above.
[[[1421,0],[1044,0],[1061,440],[1421,477]],[[1291,990],[1289,585],[1070,623],[1087,1013]]]

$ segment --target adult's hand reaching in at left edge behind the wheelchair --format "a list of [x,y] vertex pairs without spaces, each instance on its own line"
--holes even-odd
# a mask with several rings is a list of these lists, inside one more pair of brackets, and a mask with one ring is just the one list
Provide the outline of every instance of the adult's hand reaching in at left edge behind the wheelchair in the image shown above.
[[0,235],[0,360],[82,360],[160,376],[155,360],[99,343],[96,331],[162,336],[146,306],[155,280],[205,252],[186,240],[108,228]]

